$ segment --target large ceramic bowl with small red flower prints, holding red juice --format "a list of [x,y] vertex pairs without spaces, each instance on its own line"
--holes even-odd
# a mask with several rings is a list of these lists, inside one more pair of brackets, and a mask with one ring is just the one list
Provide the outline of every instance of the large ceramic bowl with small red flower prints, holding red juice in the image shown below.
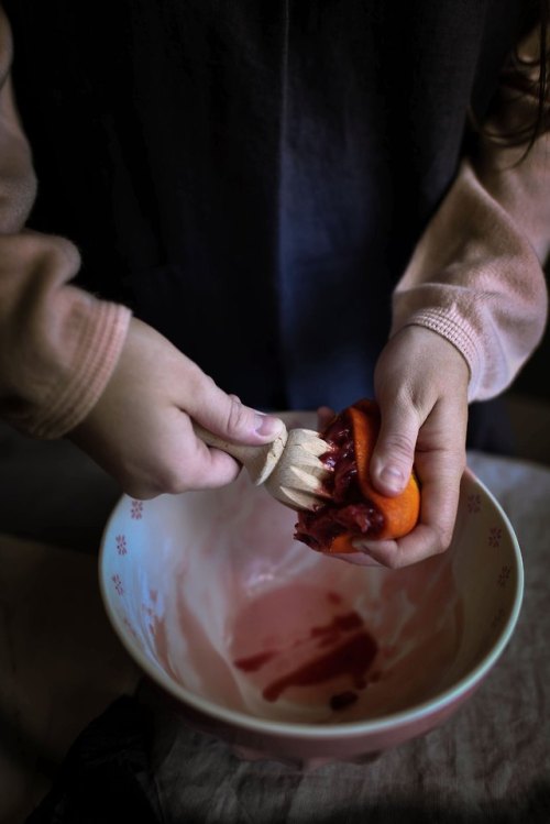
[[498,503],[466,471],[450,550],[399,571],[314,552],[295,521],[245,473],[218,491],[123,496],[100,587],[130,656],[249,757],[354,760],[442,723],[518,619],[521,556]]

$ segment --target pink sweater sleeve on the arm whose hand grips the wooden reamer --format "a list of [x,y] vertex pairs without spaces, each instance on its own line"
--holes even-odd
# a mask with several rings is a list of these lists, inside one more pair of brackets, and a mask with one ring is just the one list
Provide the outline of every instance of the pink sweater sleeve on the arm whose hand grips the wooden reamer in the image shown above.
[[35,196],[10,85],[11,33],[0,8],[0,416],[58,438],[87,415],[123,347],[130,311],[69,284],[68,241],[25,230]]

